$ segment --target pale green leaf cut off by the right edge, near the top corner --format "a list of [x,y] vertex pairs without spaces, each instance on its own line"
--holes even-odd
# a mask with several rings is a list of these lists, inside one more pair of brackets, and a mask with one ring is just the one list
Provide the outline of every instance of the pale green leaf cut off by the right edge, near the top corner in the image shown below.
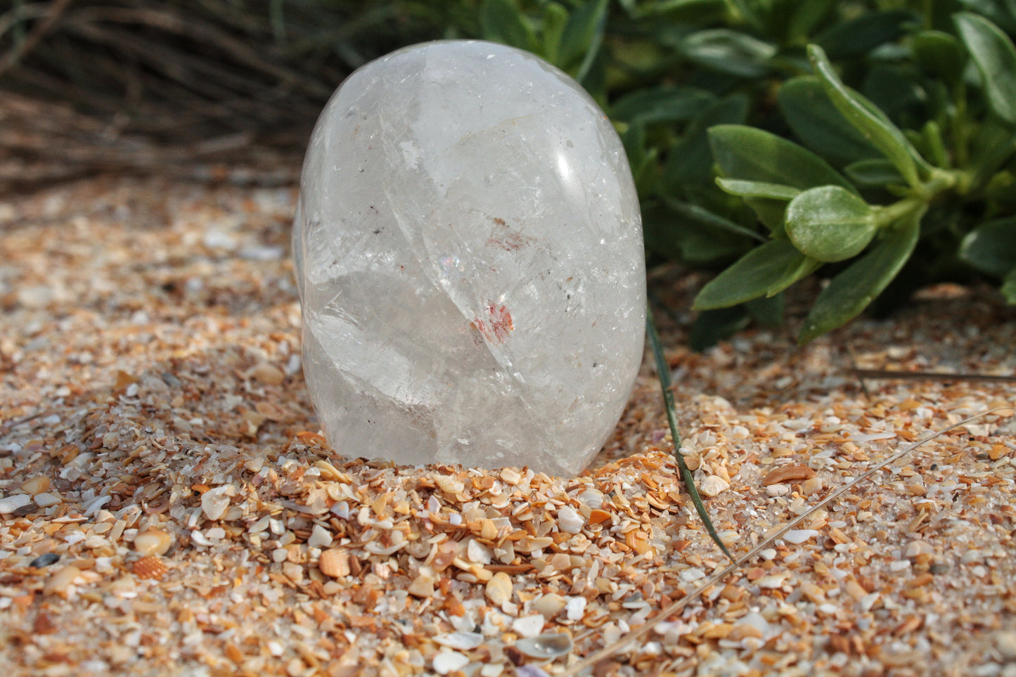
[[972,12],[958,12],[953,21],[980,72],[988,105],[1003,120],[1016,122],[1016,48],[1009,36]]

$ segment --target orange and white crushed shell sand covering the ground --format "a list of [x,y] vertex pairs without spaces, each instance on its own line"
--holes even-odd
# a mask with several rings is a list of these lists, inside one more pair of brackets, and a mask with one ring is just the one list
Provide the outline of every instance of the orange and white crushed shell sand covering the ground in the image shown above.
[[[35,675],[557,675],[725,562],[657,382],[579,477],[329,449],[300,375],[291,189],[102,178],[0,201],[0,662]],[[652,281],[681,309],[700,278]],[[788,304],[800,321],[802,301]],[[933,298],[934,297],[934,298]],[[736,553],[871,464],[1016,401],[1016,319],[939,288],[803,349],[666,336]],[[812,515],[587,675],[1016,675],[1011,418]],[[340,455],[346,454],[346,455]]]

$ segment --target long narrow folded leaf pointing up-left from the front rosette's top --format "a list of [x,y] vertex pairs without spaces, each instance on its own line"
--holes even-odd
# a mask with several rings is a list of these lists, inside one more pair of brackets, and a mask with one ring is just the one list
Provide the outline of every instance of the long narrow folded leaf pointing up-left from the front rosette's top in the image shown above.
[[903,132],[874,104],[856,91],[847,88],[839,80],[822,48],[817,45],[809,45],[808,58],[811,59],[812,67],[821,79],[822,86],[829,99],[843,117],[896,166],[896,169],[910,186],[919,187],[918,165],[922,168],[927,168],[928,171],[931,168],[927,167],[927,163],[906,140]]

